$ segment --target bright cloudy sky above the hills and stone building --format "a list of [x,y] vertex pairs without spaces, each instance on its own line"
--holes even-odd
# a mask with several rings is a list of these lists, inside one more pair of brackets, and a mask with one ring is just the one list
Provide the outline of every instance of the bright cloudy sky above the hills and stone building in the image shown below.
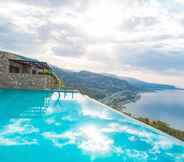
[[0,0],[0,49],[184,87],[184,0]]

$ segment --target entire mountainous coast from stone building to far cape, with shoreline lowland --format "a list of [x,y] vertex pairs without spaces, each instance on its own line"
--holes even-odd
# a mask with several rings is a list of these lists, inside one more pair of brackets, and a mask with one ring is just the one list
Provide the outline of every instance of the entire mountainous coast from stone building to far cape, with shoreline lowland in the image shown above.
[[81,93],[103,102],[115,109],[123,109],[128,102],[140,98],[139,92],[175,89],[171,85],[147,83],[134,78],[117,77],[111,74],[97,74],[88,71],[74,72],[53,67],[68,89],[78,89]]

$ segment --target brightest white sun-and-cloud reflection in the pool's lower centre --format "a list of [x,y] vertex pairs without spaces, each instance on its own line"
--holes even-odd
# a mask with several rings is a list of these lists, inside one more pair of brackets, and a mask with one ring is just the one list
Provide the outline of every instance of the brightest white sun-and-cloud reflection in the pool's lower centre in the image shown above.
[[114,146],[112,138],[109,138],[102,129],[95,125],[81,126],[61,134],[45,132],[43,136],[51,140],[56,147],[76,145],[83,153],[90,155],[92,159],[111,153],[118,155],[124,153],[122,148]]

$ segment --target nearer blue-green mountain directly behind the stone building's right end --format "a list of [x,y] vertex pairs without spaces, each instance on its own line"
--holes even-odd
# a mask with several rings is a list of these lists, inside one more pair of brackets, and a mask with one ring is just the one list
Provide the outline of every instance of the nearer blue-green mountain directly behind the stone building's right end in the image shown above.
[[69,89],[79,89],[82,93],[95,99],[103,99],[116,92],[136,89],[127,81],[88,71],[73,72],[54,67],[56,74],[65,82]]

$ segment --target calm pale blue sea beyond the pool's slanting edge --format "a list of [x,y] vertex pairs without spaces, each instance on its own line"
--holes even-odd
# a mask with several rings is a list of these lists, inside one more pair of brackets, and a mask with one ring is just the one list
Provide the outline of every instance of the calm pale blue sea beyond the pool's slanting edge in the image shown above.
[[136,116],[161,120],[173,128],[184,130],[184,91],[143,93],[138,101],[126,107],[127,112]]

